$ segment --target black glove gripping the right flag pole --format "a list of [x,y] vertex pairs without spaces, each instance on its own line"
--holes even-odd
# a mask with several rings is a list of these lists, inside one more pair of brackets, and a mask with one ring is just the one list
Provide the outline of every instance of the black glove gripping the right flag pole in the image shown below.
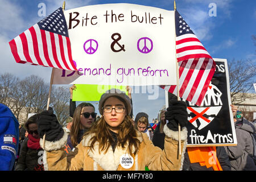
[[170,106],[167,108],[165,115],[166,119],[169,121],[167,127],[170,130],[177,131],[178,123],[181,128],[187,126],[188,111],[186,102],[170,100]]

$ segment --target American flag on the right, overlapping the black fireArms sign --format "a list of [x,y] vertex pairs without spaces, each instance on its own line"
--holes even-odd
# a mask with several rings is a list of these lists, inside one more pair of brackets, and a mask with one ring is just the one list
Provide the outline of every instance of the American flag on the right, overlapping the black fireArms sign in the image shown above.
[[[177,11],[175,11],[175,26],[179,96],[199,106],[212,80],[216,63]],[[176,85],[160,87],[177,95]]]

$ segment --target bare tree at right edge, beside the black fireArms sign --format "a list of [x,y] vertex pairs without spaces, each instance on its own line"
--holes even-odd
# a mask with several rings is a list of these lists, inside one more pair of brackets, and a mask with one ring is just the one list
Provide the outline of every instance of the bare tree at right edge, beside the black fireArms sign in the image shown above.
[[228,61],[230,94],[233,104],[240,104],[246,98],[255,98],[249,92],[253,88],[256,65],[252,60]]

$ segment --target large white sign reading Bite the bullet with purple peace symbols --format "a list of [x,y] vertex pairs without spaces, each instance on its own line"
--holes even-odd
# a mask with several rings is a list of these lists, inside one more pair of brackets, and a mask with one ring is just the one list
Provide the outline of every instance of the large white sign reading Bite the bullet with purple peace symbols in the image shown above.
[[65,10],[79,72],[53,84],[175,85],[174,11],[126,3]]

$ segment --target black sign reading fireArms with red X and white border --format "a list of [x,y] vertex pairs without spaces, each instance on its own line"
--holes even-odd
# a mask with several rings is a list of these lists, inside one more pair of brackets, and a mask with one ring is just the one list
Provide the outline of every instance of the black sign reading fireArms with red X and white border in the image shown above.
[[[188,147],[232,146],[237,144],[230,107],[228,64],[214,59],[216,71],[200,106],[187,102]],[[172,94],[173,95],[173,94]],[[169,94],[169,99],[171,93]],[[181,100],[183,100],[181,98]]]

